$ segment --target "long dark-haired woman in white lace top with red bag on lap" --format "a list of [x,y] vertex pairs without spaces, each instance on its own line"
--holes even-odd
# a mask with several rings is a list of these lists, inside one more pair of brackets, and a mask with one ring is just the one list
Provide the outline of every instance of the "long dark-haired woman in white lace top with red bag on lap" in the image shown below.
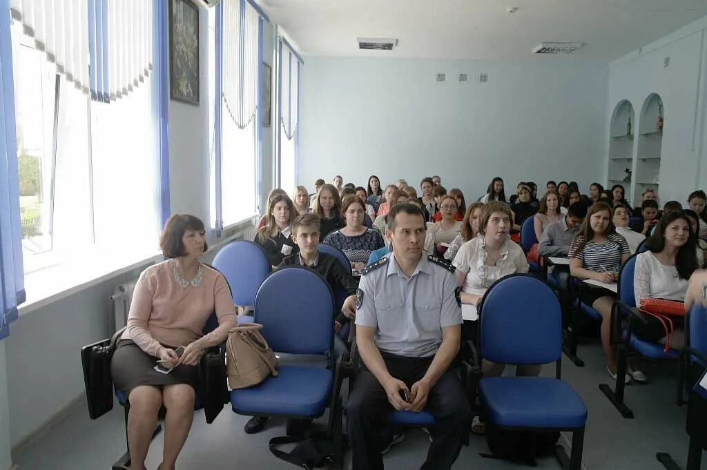
[[[655,226],[648,251],[636,257],[633,293],[636,305],[647,298],[684,302],[687,281],[698,268],[695,256],[696,237],[690,221],[680,211],[668,212]],[[672,319],[674,331],[670,347],[682,350],[685,343],[684,318]],[[633,333],[643,341],[665,344],[666,331],[658,319],[648,317],[648,323],[633,322]]]

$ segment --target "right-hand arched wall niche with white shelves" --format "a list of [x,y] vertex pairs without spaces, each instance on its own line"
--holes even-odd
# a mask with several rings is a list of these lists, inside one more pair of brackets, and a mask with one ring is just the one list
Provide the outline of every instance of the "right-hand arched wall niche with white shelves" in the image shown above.
[[[662,131],[658,131],[658,117],[663,114],[660,95],[651,94],[643,102],[641,122],[638,124],[638,158],[633,180],[633,200],[640,201],[645,189],[660,189],[660,151]],[[658,193],[660,194],[660,192]]]

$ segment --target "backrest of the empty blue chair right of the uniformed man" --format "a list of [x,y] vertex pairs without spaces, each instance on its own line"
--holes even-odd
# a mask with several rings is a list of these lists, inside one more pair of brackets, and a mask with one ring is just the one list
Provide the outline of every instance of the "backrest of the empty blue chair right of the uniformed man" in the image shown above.
[[527,274],[496,281],[481,302],[481,356],[500,364],[545,364],[560,358],[562,320],[555,293]]

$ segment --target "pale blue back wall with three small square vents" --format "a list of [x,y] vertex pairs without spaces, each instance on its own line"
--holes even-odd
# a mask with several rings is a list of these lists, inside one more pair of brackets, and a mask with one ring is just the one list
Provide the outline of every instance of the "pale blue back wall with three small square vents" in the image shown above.
[[309,189],[337,174],[415,187],[438,174],[471,201],[495,176],[508,196],[520,181],[587,188],[602,174],[604,64],[308,57],[302,80],[299,184]]

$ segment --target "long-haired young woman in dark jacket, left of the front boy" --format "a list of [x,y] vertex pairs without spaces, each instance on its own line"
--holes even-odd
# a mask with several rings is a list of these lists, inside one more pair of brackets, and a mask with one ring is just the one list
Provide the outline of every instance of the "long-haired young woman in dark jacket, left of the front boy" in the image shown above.
[[271,266],[278,266],[284,257],[297,252],[290,237],[290,222],[295,218],[295,206],[288,196],[275,196],[271,201],[265,226],[253,240],[262,247]]

